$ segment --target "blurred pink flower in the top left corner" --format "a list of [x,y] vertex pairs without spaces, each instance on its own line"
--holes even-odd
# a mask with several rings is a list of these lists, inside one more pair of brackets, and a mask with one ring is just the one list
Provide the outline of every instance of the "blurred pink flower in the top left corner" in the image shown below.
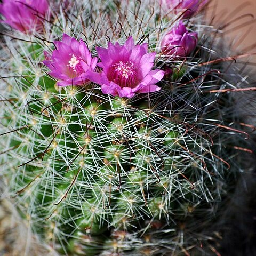
[[47,0],[3,0],[0,4],[3,22],[22,32],[41,30],[48,9]]

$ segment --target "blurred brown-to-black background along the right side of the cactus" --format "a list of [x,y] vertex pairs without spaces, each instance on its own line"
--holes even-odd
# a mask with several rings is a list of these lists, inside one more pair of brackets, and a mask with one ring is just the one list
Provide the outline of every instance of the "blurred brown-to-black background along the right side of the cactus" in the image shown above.
[[[256,53],[256,1],[244,0],[211,0],[207,17],[221,28],[225,34],[225,43],[230,44],[231,52]],[[226,24],[223,27],[223,24]],[[222,27],[221,27],[222,26]],[[250,72],[247,81],[250,87],[256,87],[256,55],[237,60],[235,65],[245,65]],[[254,109],[246,113],[247,123],[256,126],[255,94],[247,93],[247,101],[241,103]],[[254,97],[253,97],[254,94]],[[243,101],[243,99],[241,99]],[[250,135],[254,154],[248,156],[248,172],[243,173],[234,198],[227,212],[229,230],[222,240],[221,256],[255,256],[256,255],[256,135]],[[251,159],[250,159],[251,158]],[[216,254],[217,255],[217,254]]]

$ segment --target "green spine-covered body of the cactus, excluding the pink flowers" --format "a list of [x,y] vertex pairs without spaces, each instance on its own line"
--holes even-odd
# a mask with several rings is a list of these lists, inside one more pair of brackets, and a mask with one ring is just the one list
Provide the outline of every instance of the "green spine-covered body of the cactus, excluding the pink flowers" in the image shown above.
[[[233,147],[245,134],[231,130],[240,129],[233,94],[209,92],[230,87],[225,66],[200,65],[217,59],[203,28],[204,47],[193,56],[165,58],[158,36],[177,17],[167,19],[154,1],[130,1],[132,12],[124,2],[75,1],[68,19],[60,5],[43,34],[7,33],[1,176],[29,227],[59,254],[213,253],[211,224],[234,186],[241,159]],[[161,91],[131,99],[95,84],[57,87],[42,60],[53,50],[47,42],[63,32],[86,38],[94,55],[107,38],[123,43],[130,34],[140,43],[148,36],[159,52],[156,67],[173,74],[158,83]]]

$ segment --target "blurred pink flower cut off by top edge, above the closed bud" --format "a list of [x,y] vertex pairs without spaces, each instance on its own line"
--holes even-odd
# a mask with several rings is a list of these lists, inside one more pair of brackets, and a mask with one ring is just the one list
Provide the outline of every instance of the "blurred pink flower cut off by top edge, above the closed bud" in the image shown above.
[[209,0],[165,0],[169,9],[186,11],[183,18],[189,18],[199,12]]

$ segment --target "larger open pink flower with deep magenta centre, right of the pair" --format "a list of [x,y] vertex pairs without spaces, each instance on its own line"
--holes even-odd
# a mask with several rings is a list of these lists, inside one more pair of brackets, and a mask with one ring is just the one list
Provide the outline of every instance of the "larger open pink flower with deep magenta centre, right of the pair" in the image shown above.
[[101,85],[103,93],[113,96],[131,98],[136,93],[156,92],[160,87],[156,85],[164,71],[151,70],[156,53],[148,53],[148,45],[134,45],[129,37],[124,45],[108,43],[108,48],[96,47],[103,70],[94,73],[91,80]]

